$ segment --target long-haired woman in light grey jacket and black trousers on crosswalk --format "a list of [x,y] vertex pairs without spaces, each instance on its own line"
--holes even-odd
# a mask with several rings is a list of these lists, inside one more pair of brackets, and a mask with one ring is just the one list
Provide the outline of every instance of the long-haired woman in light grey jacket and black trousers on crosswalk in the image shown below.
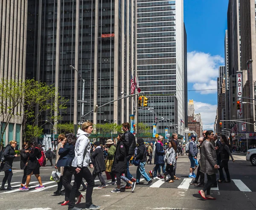
[[166,176],[169,174],[171,176],[169,183],[172,183],[174,182],[173,180],[175,180],[173,168],[176,165],[177,146],[173,140],[169,141],[168,146],[169,148],[166,150],[166,154],[164,157],[164,161],[166,162],[166,172],[163,173],[163,176],[164,180],[166,180]]

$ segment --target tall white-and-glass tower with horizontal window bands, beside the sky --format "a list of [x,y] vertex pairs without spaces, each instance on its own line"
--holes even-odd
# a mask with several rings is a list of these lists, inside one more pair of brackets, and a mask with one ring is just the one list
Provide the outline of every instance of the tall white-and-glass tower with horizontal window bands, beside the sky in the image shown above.
[[[137,0],[137,80],[148,97],[148,107],[155,108],[158,119],[163,117],[169,119],[169,124],[177,124],[178,133],[184,131],[180,121],[184,121],[186,115],[185,38],[183,0]],[[176,107],[175,103],[166,101],[172,97],[177,99]],[[172,114],[169,104],[172,104]],[[149,114],[139,111],[138,122],[147,123]],[[165,120],[161,120],[157,132],[164,133],[166,126]]]

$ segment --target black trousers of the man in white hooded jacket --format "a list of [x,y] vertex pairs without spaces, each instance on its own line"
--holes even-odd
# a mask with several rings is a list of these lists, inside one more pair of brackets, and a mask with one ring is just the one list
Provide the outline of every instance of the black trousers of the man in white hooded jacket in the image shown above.
[[93,203],[92,201],[92,194],[93,194],[93,187],[94,187],[93,176],[90,173],[90,170],[88,167],[82,167],[79,173],[75,173],[75,180],[70,193],[70,200],[68,203],[69,208],[73,208],[75,206],[76,192],[79,189],[83,178],[87,182],[85,205],[86,207],[89,207]]

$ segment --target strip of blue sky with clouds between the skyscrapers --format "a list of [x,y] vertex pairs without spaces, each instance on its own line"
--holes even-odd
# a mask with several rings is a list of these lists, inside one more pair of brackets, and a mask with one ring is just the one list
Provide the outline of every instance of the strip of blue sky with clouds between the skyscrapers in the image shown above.
[[[217,88],[218,66],[224,65],[227,6],[228,0],[184,0],[188,90]],[[213,128],[217,91],[188,91],[188,99],[195,101],[196,113],[211,115],[202,119],[204,128]]]

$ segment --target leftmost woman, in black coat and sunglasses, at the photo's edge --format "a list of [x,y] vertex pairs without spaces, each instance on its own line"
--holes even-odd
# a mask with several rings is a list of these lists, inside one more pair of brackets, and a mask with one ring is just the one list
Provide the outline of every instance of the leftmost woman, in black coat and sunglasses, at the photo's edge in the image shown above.
[[[0,190],[13,190],[11,186],[12,181],[12,162],[17,155],[15,154],[14,148],[16,147],[17,142],[11,141],[9,145],[6,146],[5,150],[3,151],[4,161],[2,162],[0,166],[0,172],[4,171],[4,177],[3,182]],[[4,185],[6,184],[6,181],[8,183],[7,189],[4,188]]]

